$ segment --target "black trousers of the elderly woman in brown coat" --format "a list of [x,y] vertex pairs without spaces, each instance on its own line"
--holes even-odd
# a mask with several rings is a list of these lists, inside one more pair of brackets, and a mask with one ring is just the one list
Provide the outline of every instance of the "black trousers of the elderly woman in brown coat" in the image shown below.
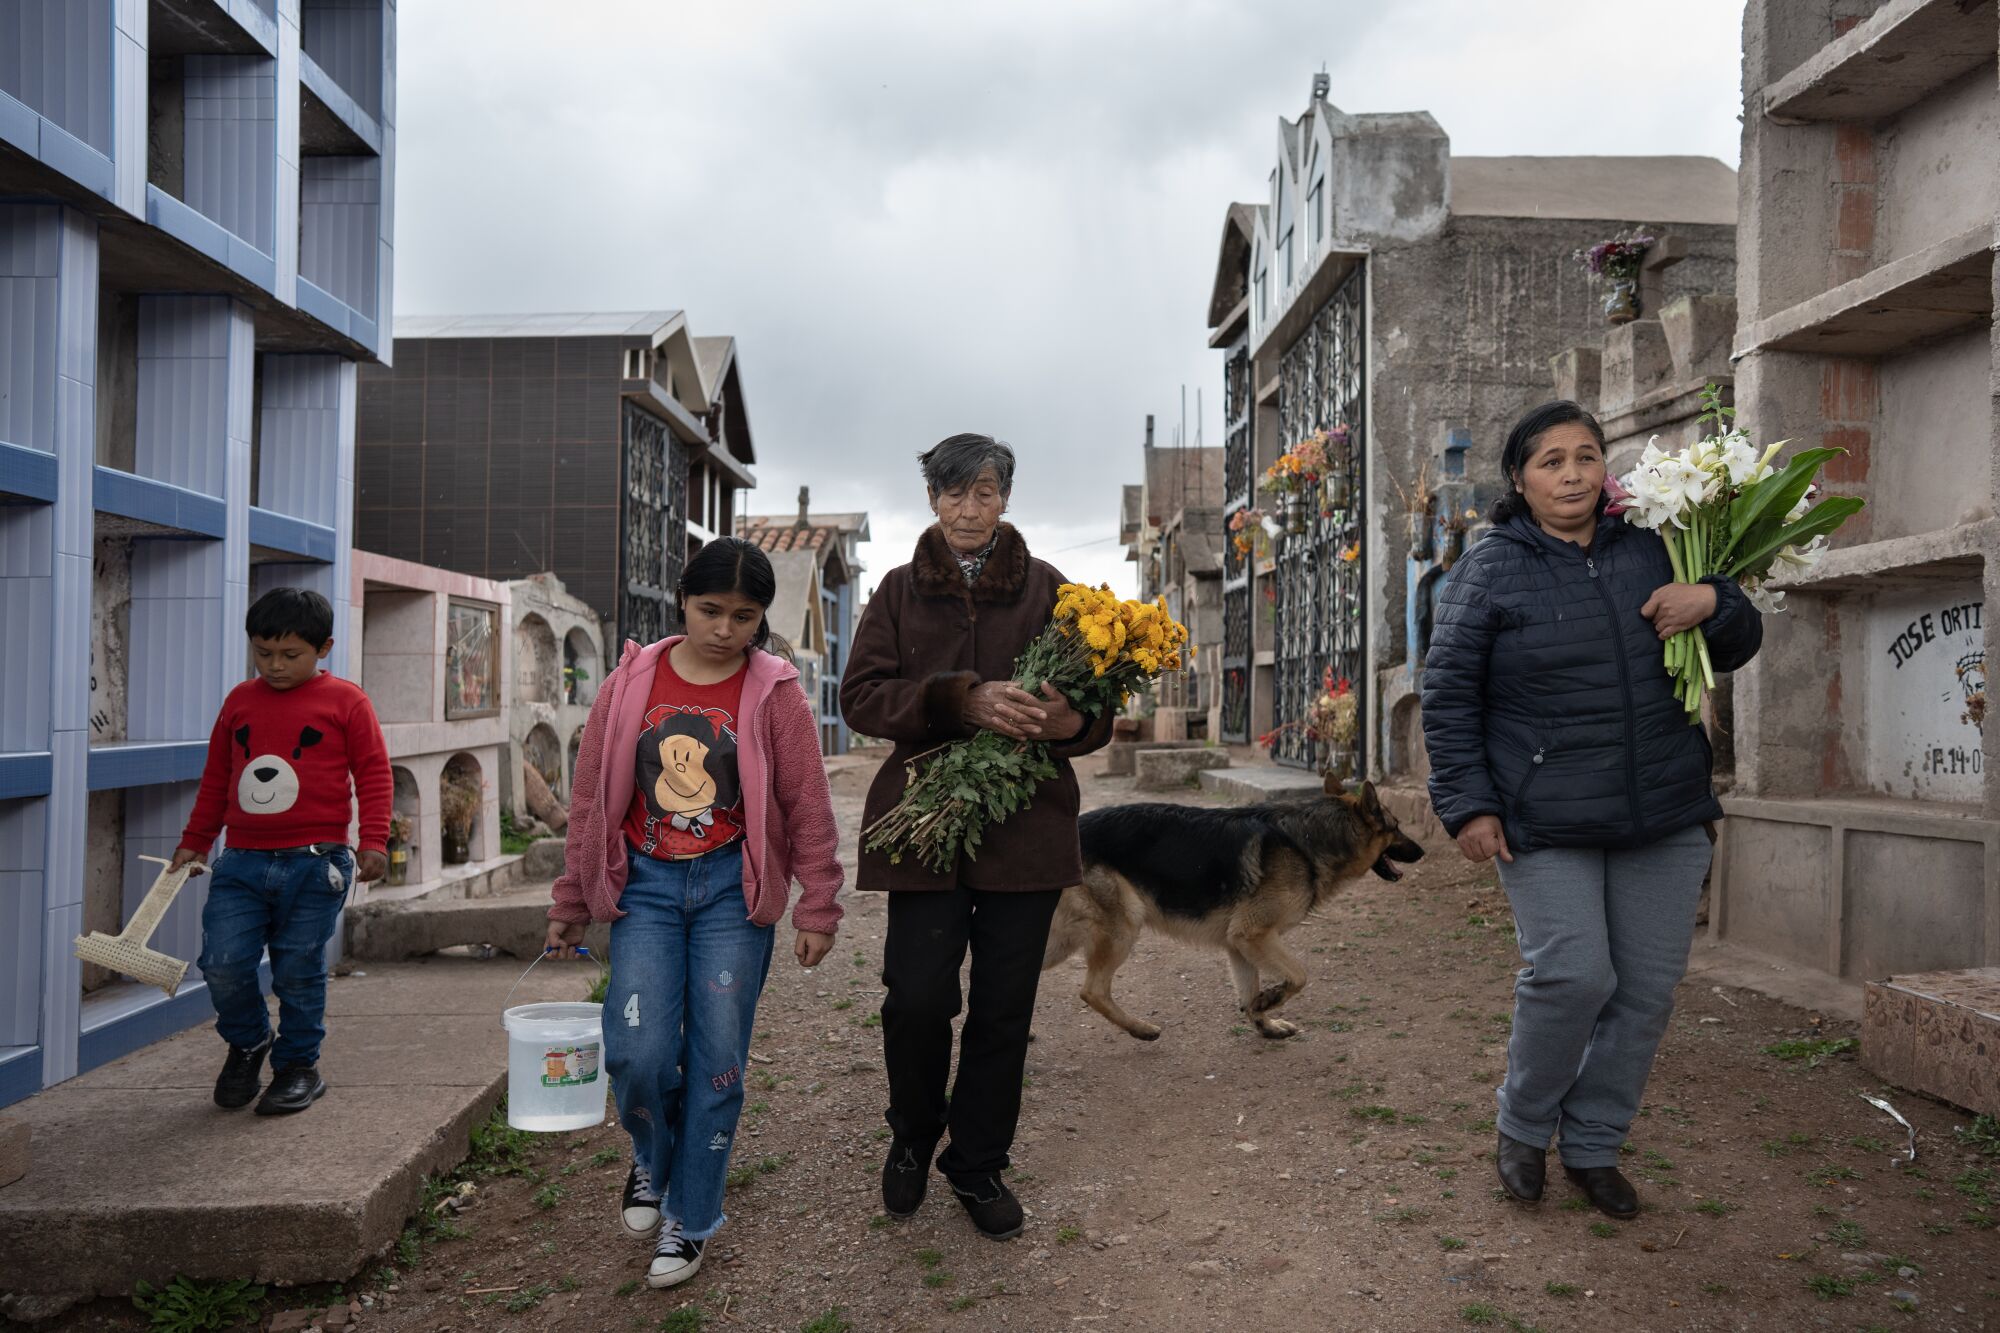
[[[950,1177],[1002,1171],[1020,1119],[1028,1025],[1042,981],[1042,951],[1060,889],[912,889],[888,895],[882,945],[882,1055],[888,1063],[888,1125],[898,1139],[952,1143],[938,1159]],[[952,1071],[958,969],[972,947],[972,997]]]

